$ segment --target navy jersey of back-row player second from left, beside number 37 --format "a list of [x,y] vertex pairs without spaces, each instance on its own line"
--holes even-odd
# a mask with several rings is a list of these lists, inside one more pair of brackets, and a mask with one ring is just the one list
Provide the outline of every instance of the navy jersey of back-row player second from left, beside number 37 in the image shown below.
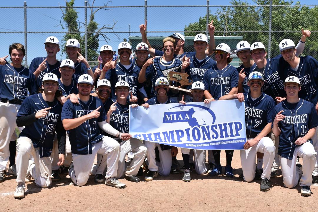
[[[47,57],[39,57],[39,58],[34,58],[30,64],[30,71],[32,73],[35,72],[35,70],[38,69],[39,65],[46,59]],[[56,64],[54,65],[50,65],[47,61],[46,61],[46,68],[41,71],[41,73],[38,75],[37,78],[37,86],[38,88],[42,87],[42,79],[44,77],[44,75],[46,73],[53,73],[55,74],[58,78],[61,78],[61,73],[59,72],[59,67],[61,65],[60,61],[57,61]]]

